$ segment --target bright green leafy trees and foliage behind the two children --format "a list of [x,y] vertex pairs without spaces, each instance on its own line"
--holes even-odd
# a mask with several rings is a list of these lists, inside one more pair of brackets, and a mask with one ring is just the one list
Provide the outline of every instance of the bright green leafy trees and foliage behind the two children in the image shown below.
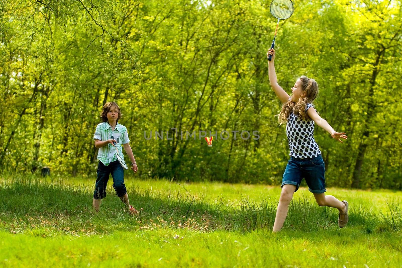
[[[400,6],[296,1],[280,23],[279,84],[290,91],[298,76],[315,78],[318,111],[348,135],[341,145],[316,128],[327,186],[402,188]],[[142,177],[281,180],[289,149],[268,81],[276,23],[269,3],[43,0],[0,8],[1,165],[93,176],[92,133],[114,100]],[[223,140],[224,130],[259,131],[260,139]],[[186,131],[218,137],[209,148],[186,140]]]

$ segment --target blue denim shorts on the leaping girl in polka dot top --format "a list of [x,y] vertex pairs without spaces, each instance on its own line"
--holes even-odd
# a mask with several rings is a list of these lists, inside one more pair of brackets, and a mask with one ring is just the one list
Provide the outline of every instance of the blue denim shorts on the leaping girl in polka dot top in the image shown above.
[[299,189],[301,180],[306,179],[308,190],[314,194],[326,192],[325,189],[325,165],[321,155],[314,158],[290,157],[287,162],[285,173],[283,173],[282,185],[292,184]]

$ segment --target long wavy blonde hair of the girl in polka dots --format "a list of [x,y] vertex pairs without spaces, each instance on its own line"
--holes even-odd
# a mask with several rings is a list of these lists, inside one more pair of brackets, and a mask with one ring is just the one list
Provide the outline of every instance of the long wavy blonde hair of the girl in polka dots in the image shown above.
[[290,113],[298,115],[302,120],[307,121],[311,118],[306,112],[306,104],[313,103],[318,96],[318,84],[316,80],[308,78],[307,76],[300,76],[301,81],[301,96],[296,103],[288,100],[282,105],[281,112],[279,113],[278,122],[279,125],[287,122],[287,117]]

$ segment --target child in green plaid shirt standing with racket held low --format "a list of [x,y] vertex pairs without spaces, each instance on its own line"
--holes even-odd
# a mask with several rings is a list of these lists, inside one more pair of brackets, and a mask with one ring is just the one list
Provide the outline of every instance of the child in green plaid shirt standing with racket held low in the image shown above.
[[[138,167],[135,163],[133,151],[129,145],[129,138],[125,126],[117,123],[121,118],[120,107],[116,102],[107,102],[103,106],[100,113],[102,123],[96,126],[96,131],[93,139],[95,140],[95,147],[99,148],[98,153],[98,170],[96,170],[97,178],[95,183],[94,199],[92,200],[92,207],[96,212],[99,211],[102,198],[106,196],[106,186],[109,180],[109,174],[112,174],[113,188],[116,190],[117,196],[127,206],[130,214],[137,213],[128,200],[127,190],[124,185],[124,170],[115,156],[116,148],[113,142],[116,143],[117,150],[123,158],[121,150],[122,145],[127,155],[131,159],[131,169],[137,172]],[[114,139],[111,139],[113,136]]]

